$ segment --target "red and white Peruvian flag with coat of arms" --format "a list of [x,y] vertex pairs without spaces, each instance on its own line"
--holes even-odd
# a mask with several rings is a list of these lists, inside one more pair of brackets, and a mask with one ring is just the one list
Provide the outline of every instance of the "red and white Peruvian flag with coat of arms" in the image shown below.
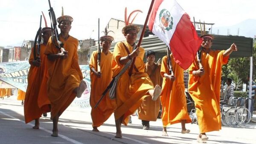
[[172,50],[175,62],[188,69],[202,39],[198,37],[189,15],[176,0],[155,0],[148,28]]

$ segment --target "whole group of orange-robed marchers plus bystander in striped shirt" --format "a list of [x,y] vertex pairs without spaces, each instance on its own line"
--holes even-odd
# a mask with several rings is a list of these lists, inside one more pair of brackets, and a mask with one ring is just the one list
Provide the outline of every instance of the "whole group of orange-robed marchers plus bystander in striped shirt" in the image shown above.
[[[69,35],[73,18],[68,15],[58,17],[59,40],[64,50],[56,48],[51,37],[51,28],[42,29],[43,43],[40,54],[34,58],[33,49],[29,58],[31,65],[28,75],[28,87],[24,101],[25,122],[35,120],[33,129],[39,129],[39,118],[51,112],[53,121],[52,136],[58,136],[58,119],[74,98],[81,97],[86,89],[85,81],[78,63],[78,40]],[[109,49],[114,40],[105,35],[100,37],[100,71],[98,52],[90,58],[90,106],[93,131],[100,127],[112,114],[116,123],[116,138],[122,138],[121,124],[127,125],[130,115],[138,110],[138,118],[143,129],[150,129],[150,121],[156,121],[161,109],[163,136],[168,136],[166,127],[180,123],[181,133],[189,133],[186,124],[191,123],[187,112],[183,69],[175,63],[172,54],[155,63],[155,52],[145,53],[143,47],[136,49],[137,34],[140,27],[128,23],[123,29],[124,41],[116,43],[113,52]],[[237,51],[235,43],[222,51],[211,49],[214,37],[201,35],[201,57],[189,67],[188,92],[195,101],[198,117],[198,142],[208,140],[206,132],[221,130],[221,66],[227,64],[229,55]],[[147,63],[143,62],[143,58]],[[129,68],[135,60],[131,74]],[[113,88],[102,101],[102,93],[114,79]],[[227,79],[227,88],[223,98],[232,97],[231,79]],[[97,104],[97,106],[96,106]]]

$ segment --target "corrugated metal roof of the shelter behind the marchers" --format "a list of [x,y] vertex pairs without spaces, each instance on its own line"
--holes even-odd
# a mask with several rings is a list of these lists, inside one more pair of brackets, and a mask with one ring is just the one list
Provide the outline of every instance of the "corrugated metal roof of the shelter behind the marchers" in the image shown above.
[[[226,35],[213,35],[215,38],[212,43],[212,49],[214,50],[226,50],[230,48],[232,43],[236,43],[239,51],[233,52],[230,58],[250,57],[253,52],[253,38],[242,36],[226,36]],[[136,40],[136,42],[139,38]],[[113,48],[117,42],[111,44],[110,51],[113,52]],[[162,42],[157,36],[143,37],[141,46],[148,50],[154,50],[156,52],[156,61],[159,58],[163,58],[166,55],[166,44]],[[97,46],[90,47],[90,55],[93,51],[97,50]],[[145,58],[145,57],[144,57]]]

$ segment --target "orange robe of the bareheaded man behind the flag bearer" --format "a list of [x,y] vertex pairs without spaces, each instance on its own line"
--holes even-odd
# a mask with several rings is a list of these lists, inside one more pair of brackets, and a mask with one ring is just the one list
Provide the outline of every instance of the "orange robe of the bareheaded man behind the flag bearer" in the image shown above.
[[[160,75],[161,65],[153,64],[151,69],[148,63],[145,63],[145,72],[149,75],[152,83],[155,85],[162,85],[162,76]],[[160,110],[160,97],[156,101],[152,101],[151,97],[144,97],[142,104],[138,108],[138,118],[144,121],[156,121]]]

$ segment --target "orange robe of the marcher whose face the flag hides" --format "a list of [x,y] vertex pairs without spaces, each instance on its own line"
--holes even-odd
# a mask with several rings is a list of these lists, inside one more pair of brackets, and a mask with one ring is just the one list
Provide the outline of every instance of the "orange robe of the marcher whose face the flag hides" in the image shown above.
[[175,81],[171,81],[171,79],[163,76],[165,73],[169,75],[167,55],[163,57],[161,66],[163,90],[160,99],[162,104],[163,127],[167,127],[170,124],[180,123],[180,120],[186,120],[186,123],[192,122],[187,112],[183,69],[175,63],[172,54],[170,56]]

